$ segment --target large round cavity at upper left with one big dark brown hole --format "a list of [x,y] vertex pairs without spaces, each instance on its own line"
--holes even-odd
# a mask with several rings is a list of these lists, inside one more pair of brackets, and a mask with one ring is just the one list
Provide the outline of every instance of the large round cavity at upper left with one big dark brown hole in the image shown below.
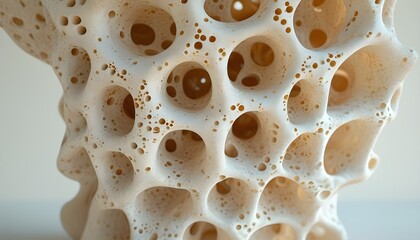
[[141,56],[154,56],[168,49],[175,41],[175,21],[159,7],[145,3],[124,4],[113,12],[112,17],[109,16],[110,31],[130,51]]

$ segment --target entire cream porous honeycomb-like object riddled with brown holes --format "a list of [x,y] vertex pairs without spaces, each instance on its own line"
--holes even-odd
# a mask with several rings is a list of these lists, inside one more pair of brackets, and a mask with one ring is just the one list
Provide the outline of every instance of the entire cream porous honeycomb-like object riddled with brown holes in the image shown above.
[[393,0],[2,0],[54,68],[74,239],[346,239],[415,53]]

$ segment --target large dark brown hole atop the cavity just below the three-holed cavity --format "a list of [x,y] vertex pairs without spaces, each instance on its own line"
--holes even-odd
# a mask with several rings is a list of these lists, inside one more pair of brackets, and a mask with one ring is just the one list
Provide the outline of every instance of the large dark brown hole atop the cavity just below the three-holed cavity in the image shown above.
[[250,139],[257,134],[259,128],[257,116],[245,113],[238,117],[232,125],[232,133],[240,139]]

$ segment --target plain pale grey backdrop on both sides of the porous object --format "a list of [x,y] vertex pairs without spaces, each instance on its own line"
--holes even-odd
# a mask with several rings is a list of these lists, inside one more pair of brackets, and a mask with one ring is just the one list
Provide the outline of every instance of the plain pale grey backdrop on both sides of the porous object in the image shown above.
[[[419,11],[420,1],[400,0],[395,12],[399,40],[417,52],[420,52]],[[76,182],[56,169],[56,157],[65,129],[58,113],[62,89],[51,67],[20,50],[3,30],[0,30],[0,73],[0,238],[2,223],[22,227],[38,219],[25,216],[31,216],[31,212],[42,213],[31,206],[48,206],[49,212],[44,218],[50,218],[45,221],[57,228],[60,235],[59,208],[78,190]],[[420,215],[419,77],[418,62],[405,82],[397,118],[386,126],[375,147],[381,157],[375,174],[367,182],[342,190],[340,202],[344,203],[343,206],[350,206],[342,210],[345,224],[353,225],[350,226],[353,230],[350,236],[371,229],[369,224],[373,223],[366,219],[389,224],[390,221],[404,223],[414,219],[420,227],[420,217],[413,215],[413,211]],[[415,206],[413,211],[407,210],[410,204]],[[384,206],[384,211],[391,206],[402,219],[396,221],[390,215],[378,215],[382,212],[380,209],[369,218],[365,216],[372,209],[369,206]],[[13,211],[16,208],[18,210]],[[366,209],[366,212],[361,209]],[[413,216],[402,215],[404,211]],[[36,224],[30,229],[36,231]],[[420,239],[420,230],[414,229],[415,226],[411,231],[418,234],[417,237],[399,239]],[[379,228],[385,229],[383,226]]]

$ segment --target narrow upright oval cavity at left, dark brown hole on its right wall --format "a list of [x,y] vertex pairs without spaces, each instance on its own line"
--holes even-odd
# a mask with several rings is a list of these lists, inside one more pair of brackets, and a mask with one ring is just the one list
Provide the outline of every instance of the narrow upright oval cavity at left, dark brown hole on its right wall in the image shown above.
[[126,89],[114,86],[108,88],[100,105],[105,131],[115,135],[126,135],[134,127],[135,104],[132,95]]

